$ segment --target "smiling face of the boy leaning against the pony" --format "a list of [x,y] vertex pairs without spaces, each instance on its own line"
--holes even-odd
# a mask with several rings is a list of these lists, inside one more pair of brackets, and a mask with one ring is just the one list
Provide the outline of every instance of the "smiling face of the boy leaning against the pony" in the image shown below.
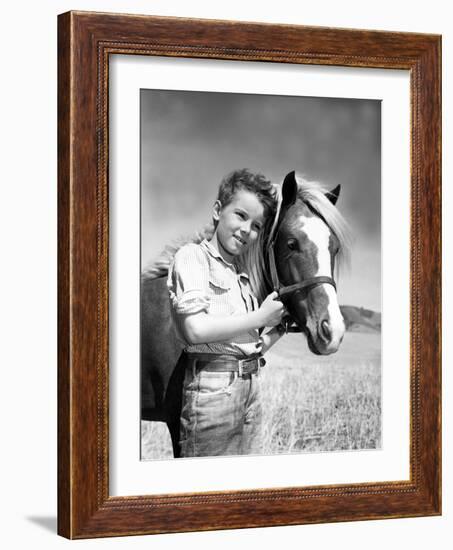
[[242,189],[226,206],[216,201],[213,217],[218,221],[214,237],[219,252],[231,261],[258,237],[264,225],[264,206],[254,193]]

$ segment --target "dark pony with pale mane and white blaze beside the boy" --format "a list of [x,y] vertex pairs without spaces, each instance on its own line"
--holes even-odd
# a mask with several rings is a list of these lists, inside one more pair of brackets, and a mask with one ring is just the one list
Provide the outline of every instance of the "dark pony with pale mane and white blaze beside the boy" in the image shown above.
[[[288,311],[287,330],[304,333],[314,354],[338,350],[345,333],[334,275],[348,263],[349,231],[335,207],[340,186],[326,192],[290,172],[274,185],[277,212],[240,258],[261,303],[273,290]],[[206,226],[191,242],[210,238]],[[167,290],[171,260],[183,241],[168,246],[141,279],[141,418],[165,422],[179,456],[184,370],[182,343],[173,326]],[[336,270],[336,271],[335,271]]]

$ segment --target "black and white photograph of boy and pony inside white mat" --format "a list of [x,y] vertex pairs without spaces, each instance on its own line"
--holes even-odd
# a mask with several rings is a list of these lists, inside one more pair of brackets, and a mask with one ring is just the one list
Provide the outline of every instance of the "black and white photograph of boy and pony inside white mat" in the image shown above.
[[381,102],[142,89],[142,460],[381,448]]

